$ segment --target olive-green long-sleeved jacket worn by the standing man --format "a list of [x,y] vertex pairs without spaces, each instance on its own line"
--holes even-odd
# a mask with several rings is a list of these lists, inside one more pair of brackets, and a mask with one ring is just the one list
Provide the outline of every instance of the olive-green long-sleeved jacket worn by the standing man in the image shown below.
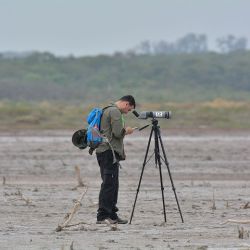
[[[101,119],[101,133],[109,140],[113,150],[119,154],[119,160],[125,160],[123,138],[125,136],[125,124],[121,111],[115,104],[110,104],[104,109]],[[110,150],[110,145],[104,142],[98,146],[96,153]]]

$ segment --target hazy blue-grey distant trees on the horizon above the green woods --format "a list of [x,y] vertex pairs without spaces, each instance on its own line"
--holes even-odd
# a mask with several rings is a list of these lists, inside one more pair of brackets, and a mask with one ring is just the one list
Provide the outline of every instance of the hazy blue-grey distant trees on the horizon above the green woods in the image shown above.
[[[215,51],[209,49],[208,39],[205,34],[188,33],[174,42],[161,40],[158,42],[151,42],[149,40],[142,41],[134,48],[128,49],[125,52],[115,52],[114,55],[171,55],[171,54],[196,54],[196,53],[230,53],[234,51],[248,50],[248,40],[246,37],[236,37],[232,34],[219,37],[216,39]],[[30,57],[37,52],[0,52],[0,58],[25,58]],[[41,53],[40,53],[41,54]],[[45,53],[46,54],[46,53]],[[47,55],[51,53],[47,53]],[[74,56],[70,56],[74,57]]]

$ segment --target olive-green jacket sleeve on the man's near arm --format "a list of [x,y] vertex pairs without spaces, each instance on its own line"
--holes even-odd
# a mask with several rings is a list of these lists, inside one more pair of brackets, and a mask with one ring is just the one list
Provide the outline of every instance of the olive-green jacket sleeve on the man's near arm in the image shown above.
[[112,109],[110,111],[110,119],[113,136],[116,138],[123,138],[126,130],[123,125],[121,112],[118,109]]

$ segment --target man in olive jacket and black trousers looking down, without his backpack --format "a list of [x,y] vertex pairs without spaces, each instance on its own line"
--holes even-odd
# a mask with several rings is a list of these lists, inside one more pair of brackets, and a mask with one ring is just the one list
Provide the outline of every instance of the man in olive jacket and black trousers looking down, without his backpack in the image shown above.
[[123,139],[132,134],[134,129],[125,127],[123,114],[135,108],[135,99],[131,95],[120,98],[104,108],[101,119],[101,132],[109,143],[102,143],[96,149],[97,161],[100,166],[102,184],[99,193],[97,223],[126,224],[128,221],[117,216],[116,207],[119,188],[119,161],[125,160]]

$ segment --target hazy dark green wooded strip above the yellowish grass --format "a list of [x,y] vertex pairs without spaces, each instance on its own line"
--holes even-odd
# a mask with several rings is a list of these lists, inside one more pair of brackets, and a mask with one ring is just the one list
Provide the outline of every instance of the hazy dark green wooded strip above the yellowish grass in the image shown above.
[[133,93],[139,102],[249,100],[250,52],[0,58],[0,99],[91,103]]

